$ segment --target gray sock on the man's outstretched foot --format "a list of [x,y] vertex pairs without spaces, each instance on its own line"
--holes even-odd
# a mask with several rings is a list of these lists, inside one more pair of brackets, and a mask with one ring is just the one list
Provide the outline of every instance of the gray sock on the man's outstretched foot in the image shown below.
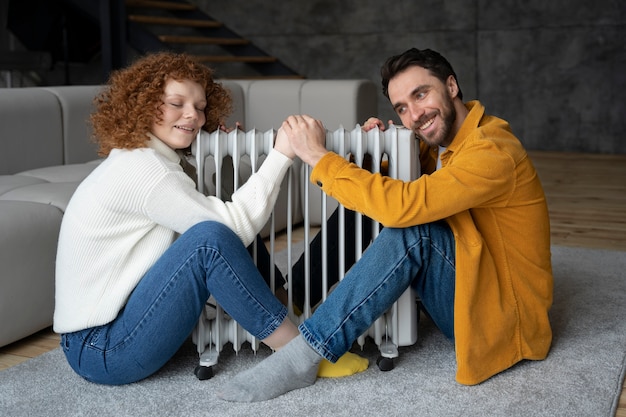
[[239,373],[217,396],[236,402],[264,401],[315,383],[322,357],[299,335],[254,368]]

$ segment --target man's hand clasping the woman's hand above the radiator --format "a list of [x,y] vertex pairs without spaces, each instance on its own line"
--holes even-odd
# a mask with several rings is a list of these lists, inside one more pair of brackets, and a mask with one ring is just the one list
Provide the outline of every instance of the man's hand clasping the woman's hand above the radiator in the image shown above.
[[326,128],[319,120],[307,115],[289,116],[280,130],[289,138],[296,155],[312,167],[328,153]]

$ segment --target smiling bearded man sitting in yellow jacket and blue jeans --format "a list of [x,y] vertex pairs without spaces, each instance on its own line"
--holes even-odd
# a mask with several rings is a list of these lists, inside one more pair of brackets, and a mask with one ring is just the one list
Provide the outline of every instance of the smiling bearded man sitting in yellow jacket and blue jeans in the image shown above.
[[[543,188],[509,124],[464,103],[449,62],[410,49],[381,69],[383,93],[420,139],[422,175],[373,174],[324,147],[306,115],[282,125],[310,180],[384,225],[363,257],[300,326],[300,335],[218,394],[260,401],[315,382],[412,286],[454,342],[456,380],[474,385],[524,360],[544,359],[552,331],[550,229]],[[391,122],[390,122],[391,123]],[[364,129],[384,123],[370,118]]]

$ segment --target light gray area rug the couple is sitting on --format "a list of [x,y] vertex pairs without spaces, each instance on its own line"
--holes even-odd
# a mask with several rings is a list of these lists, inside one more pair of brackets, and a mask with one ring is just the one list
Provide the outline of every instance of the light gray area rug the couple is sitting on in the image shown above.
[[223,402],[216,387],[251,367],[248,345],[220,356],[199,381],[195,346],[186,343],[156,375],[127,386],[75,375],[60,349],[0,372],[0,415],[20,416],[614,416],[626,357],[626,253],[553,247],[554,343],[545,361],[523,362],[473,387],[454,381],[451,342],[428,320],[418,342],[400,348],[396,367],[318,379],[307,389],[257,404]]

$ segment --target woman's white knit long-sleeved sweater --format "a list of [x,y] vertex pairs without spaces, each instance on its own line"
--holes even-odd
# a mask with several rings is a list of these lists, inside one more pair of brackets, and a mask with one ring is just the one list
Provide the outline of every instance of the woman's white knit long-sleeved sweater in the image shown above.
[[272,150],[231,202],[206,197],[156,137],[113,150],[79,185],[63,216],[56,263],[54,330],[111,322],[146,271],[179,234],[204,220],[249,245],[267,222],[291,159]]

